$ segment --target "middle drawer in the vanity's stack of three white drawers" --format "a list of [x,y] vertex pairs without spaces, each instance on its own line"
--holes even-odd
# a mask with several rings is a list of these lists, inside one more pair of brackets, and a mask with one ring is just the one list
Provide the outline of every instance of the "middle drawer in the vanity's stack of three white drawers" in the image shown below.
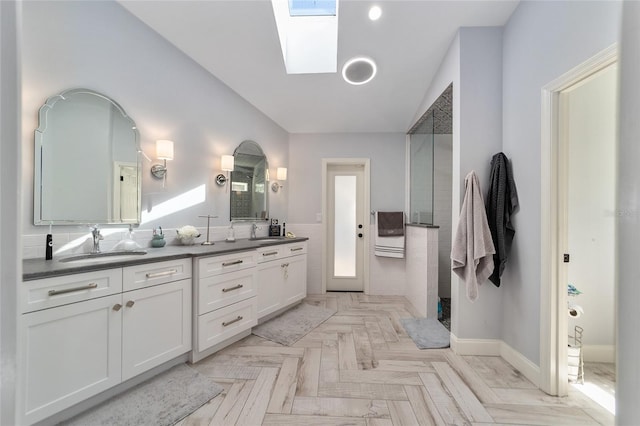
[[201,278],[198,283],[198,313],[211,312],[255,296],[256,281],[255,268]]

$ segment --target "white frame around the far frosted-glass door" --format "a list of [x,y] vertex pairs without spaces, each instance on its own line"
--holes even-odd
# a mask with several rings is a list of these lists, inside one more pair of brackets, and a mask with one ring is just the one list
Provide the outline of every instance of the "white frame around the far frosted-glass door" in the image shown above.
[[[322,288],[321,293],[327,292],[327,232],[329,223],[327,221],[327,172],[330,166],[364,166],[364,212],[371,211],[371,184],[370,184],[370,163],[369,158],[323,158],[322,159]],[[371,229],[371,218],[365,214],[364,225],[364,253],[363,253],[363,280],[364,294],[369,294],[369,257]],[[368,220],[367,220],[368,219]]]

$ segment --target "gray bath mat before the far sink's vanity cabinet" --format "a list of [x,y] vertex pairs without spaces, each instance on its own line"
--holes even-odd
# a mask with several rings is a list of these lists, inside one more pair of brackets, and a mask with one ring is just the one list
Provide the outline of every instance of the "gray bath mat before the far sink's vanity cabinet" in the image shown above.
[[251,332],[281,345],[291,346],[335,313],[335,310],[300,303],[272,320],[254,327]]

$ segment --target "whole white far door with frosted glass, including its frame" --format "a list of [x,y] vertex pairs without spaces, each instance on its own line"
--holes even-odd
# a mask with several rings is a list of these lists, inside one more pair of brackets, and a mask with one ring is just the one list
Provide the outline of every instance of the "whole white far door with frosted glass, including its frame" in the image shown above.
[[368,158],[322,160],[322,292],[369,293]]

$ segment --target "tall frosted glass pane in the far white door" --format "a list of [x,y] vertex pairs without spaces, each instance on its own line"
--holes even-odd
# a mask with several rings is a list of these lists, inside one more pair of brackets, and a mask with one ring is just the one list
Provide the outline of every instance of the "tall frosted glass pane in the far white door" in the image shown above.
[[356,276],[356,177],[336,176],[333,275]]

